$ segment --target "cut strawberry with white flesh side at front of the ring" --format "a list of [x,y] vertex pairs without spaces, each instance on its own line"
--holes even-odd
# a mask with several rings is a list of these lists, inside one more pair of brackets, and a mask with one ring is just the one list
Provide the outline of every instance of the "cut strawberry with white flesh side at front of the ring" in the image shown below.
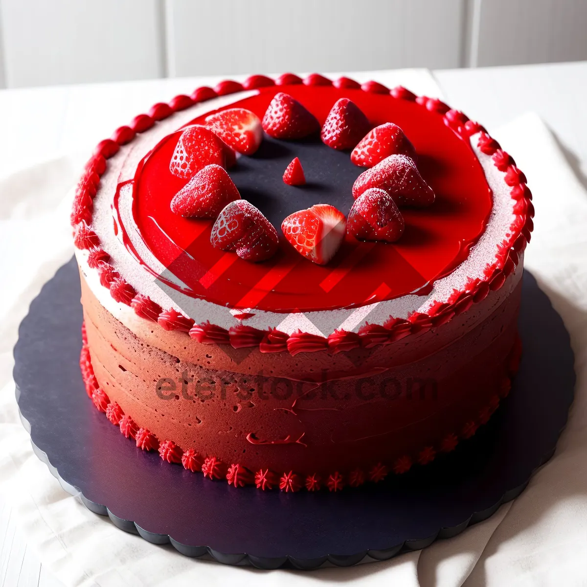
[[318,265],[325,265],[342,243],[346,218],[334,206],[315,204],[290,214],[282,222],[281,230],[299,254]]

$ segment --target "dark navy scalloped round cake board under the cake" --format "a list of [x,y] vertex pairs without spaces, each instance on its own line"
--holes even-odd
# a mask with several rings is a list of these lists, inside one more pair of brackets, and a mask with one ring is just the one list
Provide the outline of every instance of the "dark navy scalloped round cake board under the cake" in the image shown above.
[[79,298],[72,259],[43,286],[21,323],[14,379],[35,453],[66,491],[117,527],[226,564],[346,566],[452,537],[517,497],[554,453],[573,400],[568,333],[526,272],[519,373],[473,438],[426,467],[357,489],[237,489],[140,450],[95,409],[79,370]]

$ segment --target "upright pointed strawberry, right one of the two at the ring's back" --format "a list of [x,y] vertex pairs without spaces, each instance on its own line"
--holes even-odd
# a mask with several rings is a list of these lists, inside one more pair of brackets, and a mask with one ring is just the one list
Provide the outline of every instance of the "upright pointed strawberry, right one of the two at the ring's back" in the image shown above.
[[370,128],[359,107],[348,98],[340,98],[328,113],[320,138],[331,149],[353,149]]

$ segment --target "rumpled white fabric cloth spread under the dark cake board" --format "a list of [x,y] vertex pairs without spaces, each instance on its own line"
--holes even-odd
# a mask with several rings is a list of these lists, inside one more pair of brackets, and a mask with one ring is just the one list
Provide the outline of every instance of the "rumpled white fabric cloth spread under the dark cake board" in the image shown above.
[[534,114],[494,134],[515,155],[534,194],[526,265],[571,333],[578,383],[568,426],[552,460],[487,521],[424,551],[314,572],[235,568],[151,545],[86,510],[34,456],[14,400],[12,346],[28,303],[72,254],[69,202],[62,195],[80,160],[62,157],[0,181],[0,494],[43,565],[65,585],[585,585],[587,193]]

